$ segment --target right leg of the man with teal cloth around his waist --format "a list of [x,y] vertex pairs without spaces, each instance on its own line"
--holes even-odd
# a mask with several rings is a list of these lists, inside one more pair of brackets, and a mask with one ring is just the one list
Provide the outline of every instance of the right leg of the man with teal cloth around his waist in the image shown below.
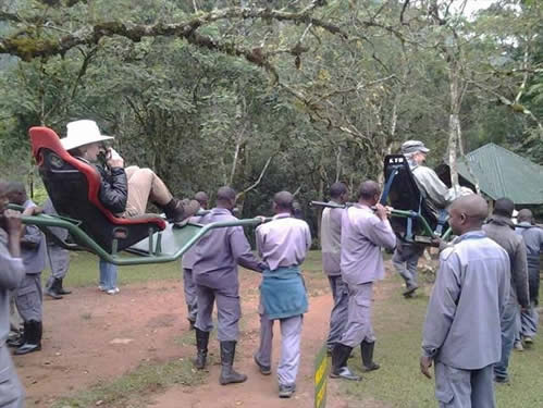
[[281,397],[291,397],[296,390],[300,361],[301,325],[304,316],[281,319],[281,360],[277,380]]

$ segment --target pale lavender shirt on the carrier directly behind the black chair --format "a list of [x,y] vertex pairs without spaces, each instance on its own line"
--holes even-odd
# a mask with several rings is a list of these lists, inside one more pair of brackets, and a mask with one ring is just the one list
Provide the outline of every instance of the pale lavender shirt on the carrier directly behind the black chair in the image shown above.
[[382,221],[371,208],[355,205],[342,214],[342,276],[349,285],[384,277],[381,247],[394,248],[396,235],[388,220]]

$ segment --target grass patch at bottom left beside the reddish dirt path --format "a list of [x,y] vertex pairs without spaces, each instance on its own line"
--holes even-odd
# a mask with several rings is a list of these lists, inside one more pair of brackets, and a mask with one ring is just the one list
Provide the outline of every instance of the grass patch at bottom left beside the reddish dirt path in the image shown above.
[[119,379],[104,381],[71,397],[59,399],[53,408],[146,407],[150,394],[172,385],[198,385],[203,378],[205,374],[195,370],[187,359],[145,363]]

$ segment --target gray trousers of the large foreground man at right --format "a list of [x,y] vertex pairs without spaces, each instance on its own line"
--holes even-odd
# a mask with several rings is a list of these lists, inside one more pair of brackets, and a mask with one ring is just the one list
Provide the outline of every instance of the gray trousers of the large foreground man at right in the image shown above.
[[435,361],[435,398],[440,408],[494,408],[492,366],[461,370]]

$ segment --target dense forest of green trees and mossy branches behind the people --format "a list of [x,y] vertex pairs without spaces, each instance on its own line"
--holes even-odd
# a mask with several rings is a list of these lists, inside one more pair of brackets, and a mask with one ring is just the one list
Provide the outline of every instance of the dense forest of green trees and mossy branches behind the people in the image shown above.
[[39,201],[28,127],[92,119],[175,195],[229,184],[246,218],[287,189],[316,231],[308,201],[408,139],[433,166],[490,141],[543,164],[543,4],[474,3],[1,0],[2,177]]

